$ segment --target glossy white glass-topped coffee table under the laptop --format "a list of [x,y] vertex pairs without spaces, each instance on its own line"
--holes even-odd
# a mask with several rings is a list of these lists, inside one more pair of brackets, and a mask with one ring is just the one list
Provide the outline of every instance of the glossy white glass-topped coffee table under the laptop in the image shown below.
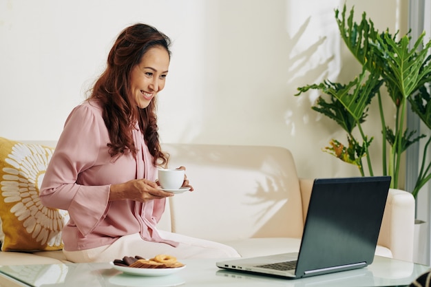
[[163,277],[125,275],[108,263],[1,266],[0,287],[407,286],[430,268],[376,256],[373,264],[359,270],[305,279],[280,279],[222,270],[215,266],[215,259],[187,259],[181,262],[187,264],[184,270]]

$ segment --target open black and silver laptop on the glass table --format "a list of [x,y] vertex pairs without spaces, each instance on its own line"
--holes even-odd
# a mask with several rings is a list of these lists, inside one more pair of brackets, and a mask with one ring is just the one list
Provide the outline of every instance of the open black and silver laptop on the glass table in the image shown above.
[[364,268],[374,259],[389,184],[390,176],[315,179],[299,253],[216,265],[291,279]]

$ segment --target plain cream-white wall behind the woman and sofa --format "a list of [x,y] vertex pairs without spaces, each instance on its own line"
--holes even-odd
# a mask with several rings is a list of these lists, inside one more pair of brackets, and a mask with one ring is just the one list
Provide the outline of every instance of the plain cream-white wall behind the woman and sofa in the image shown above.
[[[341,3],[0,0],[0,136],[56,140],[120,30],[140,21],[174,41],[159,98],[162,142],[282,146],[293,151],[299,176],[357,176],[321,151],[345,136],[311,110],[317,95],[293,96],[299,86],[345,82],[359,72],[339,38],[334,10]],[[347,3],[379,30],[405,30],[400,0]],[[377,126],[370,136],[379,133]]]

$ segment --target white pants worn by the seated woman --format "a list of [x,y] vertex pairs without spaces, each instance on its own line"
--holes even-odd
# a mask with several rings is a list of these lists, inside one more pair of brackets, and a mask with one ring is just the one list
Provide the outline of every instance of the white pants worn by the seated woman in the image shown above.
[[177,247],[165,243],[149,242],[140,238],[138,233],[126,235],[116,240],[111,245],[86,249],[82,251],[64,251],[65,257],[70,262],[112,262],[114,259],[122,259],[125,256],[139,255],[144,258],[152,258],[158,254],[167,254],[178,259],[186,258],[227,258],[240,257],[231,246],[201,240],[186,235],[158,231],[162,238],[174,240],[180,244]]

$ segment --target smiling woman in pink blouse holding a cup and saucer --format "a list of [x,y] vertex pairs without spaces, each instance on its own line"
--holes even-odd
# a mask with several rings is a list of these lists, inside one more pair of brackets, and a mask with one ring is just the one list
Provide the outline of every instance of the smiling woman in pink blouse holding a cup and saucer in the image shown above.
[[[90,98],[65,122],[40,198],[69,212],[63,253],[72,262],[239,256],[229,246],[156,227],[172,196],[155,182],[157,167],[168,162],[158,139],[156,98],[165,87],[169,44],[149,25],[123,30]],[[183,186],[193,191],[187,178]]]

